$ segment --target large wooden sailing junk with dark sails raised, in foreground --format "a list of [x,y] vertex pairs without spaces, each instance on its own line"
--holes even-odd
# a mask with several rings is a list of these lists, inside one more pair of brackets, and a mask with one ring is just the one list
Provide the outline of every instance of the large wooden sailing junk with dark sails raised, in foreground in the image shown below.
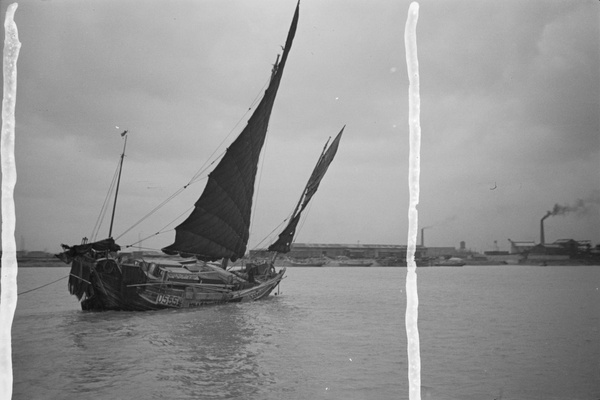
[[[249,263],[227,270],[242,258],[249,238],[250,214],[259,155],[269,117],[298,24],[299,4],[287,36],[281,61],[273,67],[264,97],[248,124],[209,175],[206,187],[188,218],[175,228],[173,244],[162,257],[134,257],[119,253],[112,238],[63,246],[57,257],[71,264],[69,291],[84,310],[144,311],[190,308],[207,304],[253,301],[267,297],[283,279],[285,268],[275,270],[277,254],[290,251],[300,215],[315,194],[337,151],[343,128],[323,149],[290,222],[269,247],[271,262]],[[127,144],[121,155],[119,178]],[[117,181],[115,205],[120,179]],[[113,219],[114,219],[113,206]],[[214,263],[221,261],[221,264]]]

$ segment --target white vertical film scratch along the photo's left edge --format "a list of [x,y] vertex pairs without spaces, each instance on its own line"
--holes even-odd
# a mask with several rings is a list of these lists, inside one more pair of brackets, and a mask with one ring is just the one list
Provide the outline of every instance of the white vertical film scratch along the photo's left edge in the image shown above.
[[11,358],[11,328],[17,308],[17,245],[15,241],[14,188],[17,182],[15,166],[15,104],[17,98],[17,58],[21,49],[14,21],[17,3],[8,6],[4,20],[2,98],[2,279],[0,295],[0,398],[12,397],[13,375]]

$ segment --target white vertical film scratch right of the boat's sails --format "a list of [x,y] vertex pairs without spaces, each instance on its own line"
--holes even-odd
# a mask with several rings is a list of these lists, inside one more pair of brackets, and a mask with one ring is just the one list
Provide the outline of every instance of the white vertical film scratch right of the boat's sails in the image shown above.
[[421,399],[421,355],[419,348],[419,295],[417,293],[417,264],[415,249],[417,246],[419,204],[419,175],[421,153],[421,122],[419,95],[419,60],[417,58],[417,20],[419,3],[411,3],[404,28],[406,65],[408,69],[408,124],[410,131],[410,155],[408,168],[408,186],[410,203],[408,206],[408,248],[406,252],[406,337],[408,349],[409,398]]

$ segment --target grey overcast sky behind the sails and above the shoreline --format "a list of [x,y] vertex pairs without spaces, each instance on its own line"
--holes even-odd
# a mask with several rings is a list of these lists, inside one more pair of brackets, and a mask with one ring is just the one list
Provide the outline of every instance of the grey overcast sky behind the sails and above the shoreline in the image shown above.
[[[600,243],[600,3],[420,5],[425,244],[465,241],[484,251],[494,241],[508,250],[508,238],[538,242],[539,221],[555,204],[571,208],[545,221],[547,242]],[[291,213],[325,141],[343,125],[337,158],[296,241],[407,242],[408,6],[302,0],[263,150],[249,248]],[[124,129],[113,236],[135,243],[186,211],[205,181],[120,236],[245,125],[295,7],[295,0],[20,2],[19,248],[55,252],[90,237]],[[107,234],[105,222],[98,239]],[[170,231],[144,246],[173,238]]]

